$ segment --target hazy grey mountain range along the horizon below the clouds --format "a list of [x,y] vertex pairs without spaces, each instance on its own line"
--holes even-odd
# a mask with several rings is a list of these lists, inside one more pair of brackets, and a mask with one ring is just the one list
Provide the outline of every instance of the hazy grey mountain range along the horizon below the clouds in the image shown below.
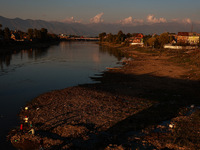
[[29,28],[46,28],[48,32],[55,34],[72,34],[72,35],[83,35],[83,36],[98,36],[99,33],[113,33],[116,34],[119,30],[124,33],[163,33],[163,32],[198,32],[200,33],[200,24],[194,23],[180,23],[180,22],[165,22],[165,23],[154,23],[154,24],[120,24],[120,23],[64,23],[58,21],[44,21],[44,20],[31,20],[31,19],[20,19],[20,18],[5,18],[0,16],[0,24],[2,28],[8,27],[11,30],[27,31]]

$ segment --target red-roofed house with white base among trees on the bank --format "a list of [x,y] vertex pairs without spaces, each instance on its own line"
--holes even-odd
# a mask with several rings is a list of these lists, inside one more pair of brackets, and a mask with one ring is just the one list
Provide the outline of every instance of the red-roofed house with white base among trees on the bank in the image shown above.
[[134,33],[132,37],[128,38],[130,45],[144,46],[143,43],[144,35],[142,33]]

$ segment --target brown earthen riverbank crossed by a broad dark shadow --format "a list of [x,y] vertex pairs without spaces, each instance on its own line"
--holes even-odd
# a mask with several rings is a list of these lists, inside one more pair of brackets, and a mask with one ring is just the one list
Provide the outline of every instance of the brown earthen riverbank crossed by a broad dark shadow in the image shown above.
[[101,83],[45,93],[27,104],[20,118],[29,117],[35,136],[13,130],[13,145],[31,149],[30,141],[39,147],[42,139],[48,149],[159,148],[147,131],[177,117],[180,109],[199,105],[198,67],[183,67],[173,53],[121,50],[132,59],[93,78]]

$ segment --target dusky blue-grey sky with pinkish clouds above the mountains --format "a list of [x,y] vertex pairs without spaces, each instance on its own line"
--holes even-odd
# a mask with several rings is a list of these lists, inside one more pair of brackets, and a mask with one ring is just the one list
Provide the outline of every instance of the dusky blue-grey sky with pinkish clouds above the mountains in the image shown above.
[[200,0],[0,0],[0,16],[60,22],[200,23]]

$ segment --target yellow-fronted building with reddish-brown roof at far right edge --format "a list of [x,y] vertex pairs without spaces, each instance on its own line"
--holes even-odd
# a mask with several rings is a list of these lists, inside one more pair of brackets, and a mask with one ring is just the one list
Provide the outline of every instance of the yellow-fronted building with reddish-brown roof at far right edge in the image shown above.
[[195,32],[178,32],[177,43],[197,45],[199,43],[199,34]]

